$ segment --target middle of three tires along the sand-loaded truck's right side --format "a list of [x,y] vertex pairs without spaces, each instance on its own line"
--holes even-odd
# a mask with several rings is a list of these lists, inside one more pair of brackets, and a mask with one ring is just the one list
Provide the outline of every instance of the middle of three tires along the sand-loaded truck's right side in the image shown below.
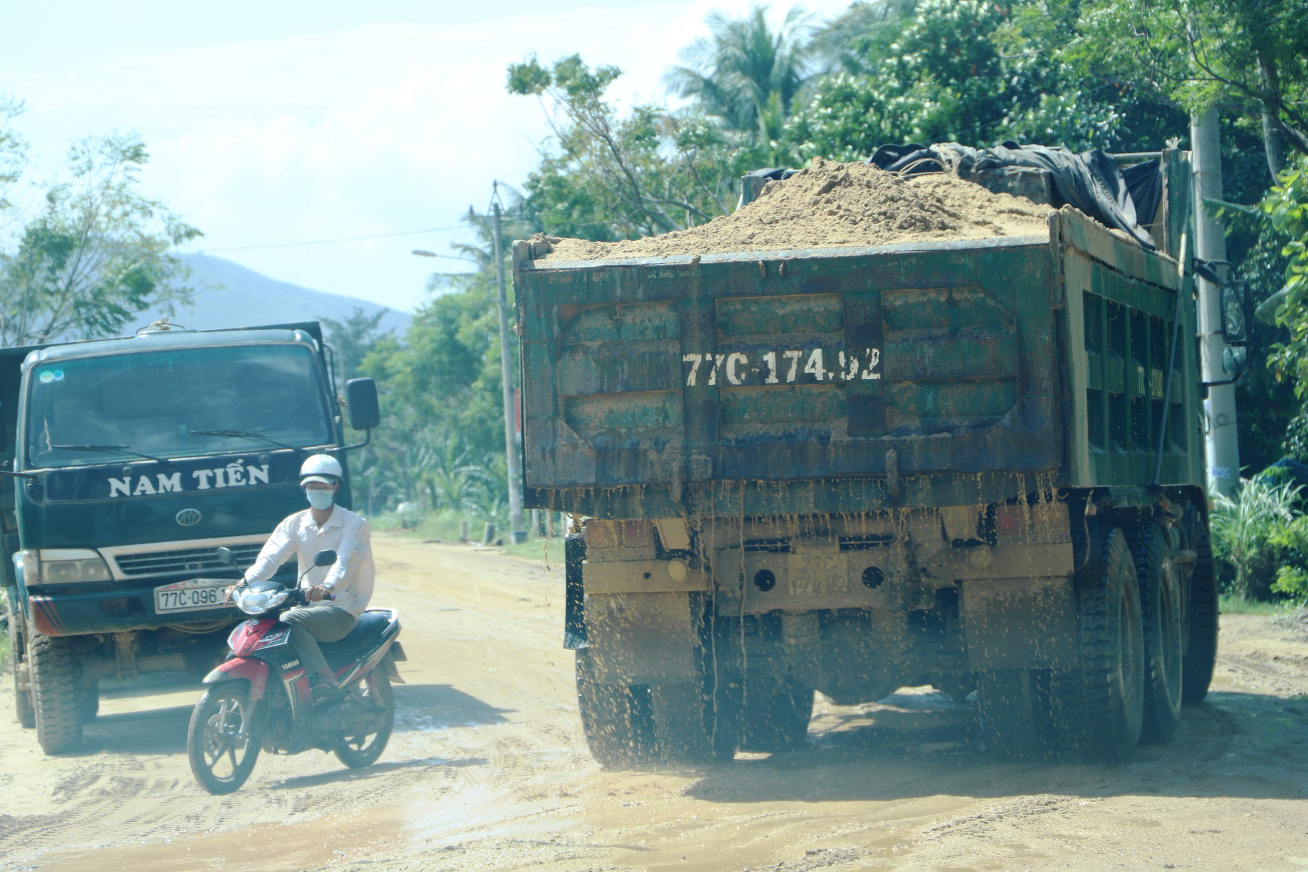
[[1181,578],[1172,563],[1167,532],[1155,523],[1141,529],[1134,556],[1144,630],[1144,720],[1141,740],[1167,744],[1176,735],[1181,716],[1185,650]]

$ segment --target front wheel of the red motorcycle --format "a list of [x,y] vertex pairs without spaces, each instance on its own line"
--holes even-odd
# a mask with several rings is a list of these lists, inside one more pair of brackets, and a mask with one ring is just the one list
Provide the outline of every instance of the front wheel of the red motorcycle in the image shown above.
[[195,780],[211,794],[230,794],[250,778],[259,758],[254,710],[245,681],[212,685],[195,703],[186,753]]

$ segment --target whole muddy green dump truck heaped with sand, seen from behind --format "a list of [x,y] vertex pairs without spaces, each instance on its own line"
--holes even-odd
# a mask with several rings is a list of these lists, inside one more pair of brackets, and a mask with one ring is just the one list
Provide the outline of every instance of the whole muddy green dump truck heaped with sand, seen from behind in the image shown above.
[[1095,217],[1058,167],[816,161],[702,226],[514,243],[596,760],[783,750],[815,692],[905,685],[1002,757],[1172,737],[1216,648],[1189,154],[1135,201],[1096,159]]

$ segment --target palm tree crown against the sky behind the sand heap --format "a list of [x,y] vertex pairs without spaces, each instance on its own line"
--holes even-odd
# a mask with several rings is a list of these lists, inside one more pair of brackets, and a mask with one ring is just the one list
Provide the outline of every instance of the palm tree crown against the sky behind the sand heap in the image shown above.
[[786,13],[776,30],[766,7],[742,18],[709,14],[710,39],[696,39],[681,51],[685,67],[674,67],[664,81],[689,97],[708,116],[732,131],[774,139],[808,77],[808,16]]

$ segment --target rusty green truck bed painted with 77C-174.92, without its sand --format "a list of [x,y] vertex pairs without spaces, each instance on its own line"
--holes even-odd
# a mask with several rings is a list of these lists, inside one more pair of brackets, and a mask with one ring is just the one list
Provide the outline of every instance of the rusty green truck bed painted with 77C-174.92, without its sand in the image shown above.
[[[530,252],[514,247],[538,507],[640,518],[976,503],[1028,493],[1033,476],[1093,484],[1092,454],[1151,455],[1162,424],[1175,265],[1070,209],[1050,216],[1049,238],[595,261]],[[1104,328],[1124,303],[1144,319],[1125,354]],[[1112,348],[1095,345],[1091,315]],[[1133,356],[1139,373],[1122,363]],[[1105,377],[1114,360],[1120,378]],[[1109,433],[1109,392],[1135,426],[1126,437]],[[1185,437],[1194,417],[1176,412]]]

